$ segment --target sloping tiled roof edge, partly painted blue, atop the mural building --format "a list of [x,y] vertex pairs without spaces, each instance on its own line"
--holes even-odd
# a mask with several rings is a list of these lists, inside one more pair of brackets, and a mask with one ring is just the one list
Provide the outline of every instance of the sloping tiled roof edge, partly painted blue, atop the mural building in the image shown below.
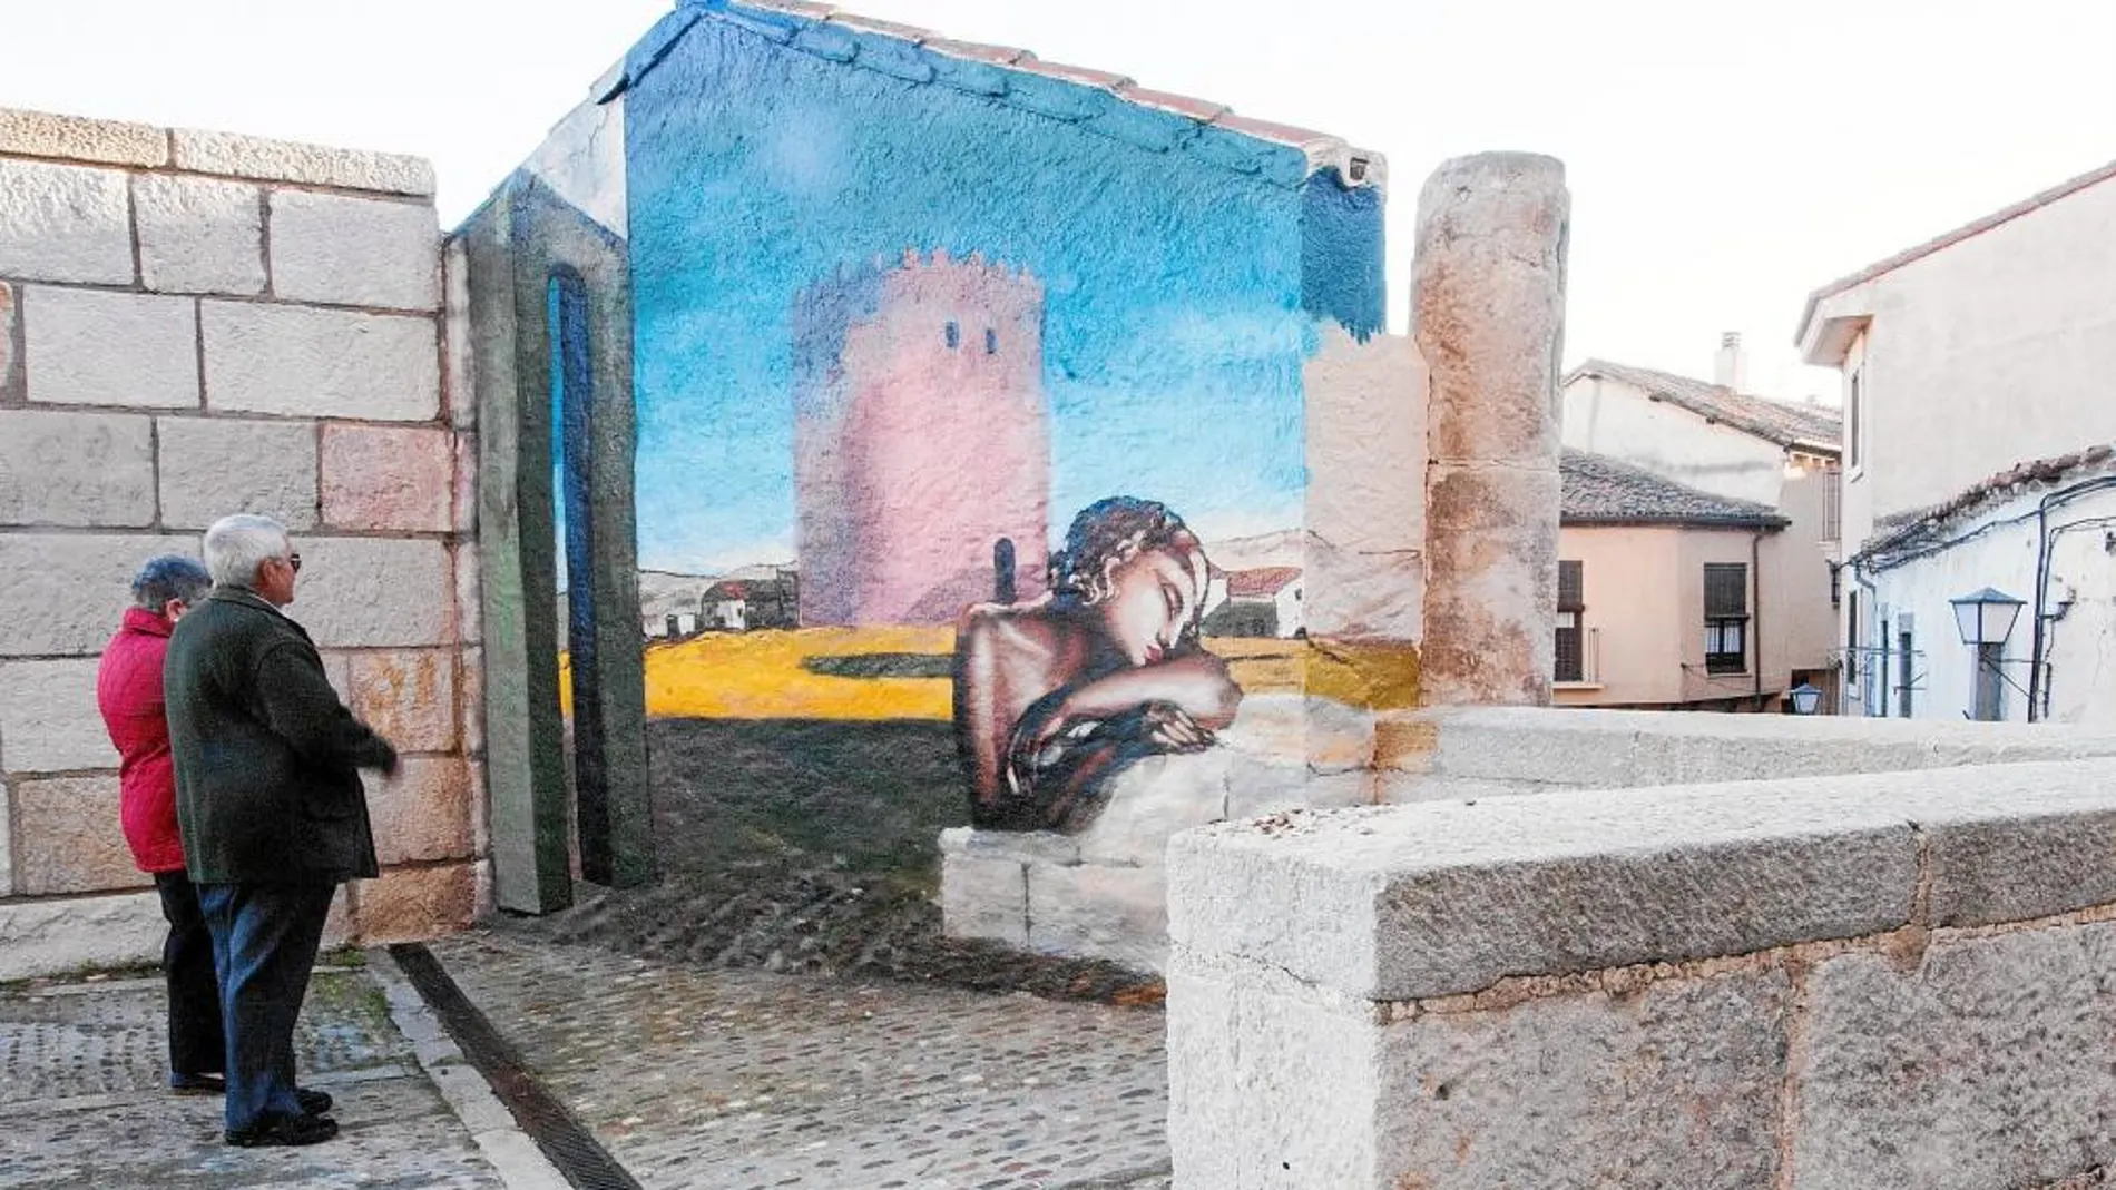
[[959,42],[813,0],[677,0],[677,8],[633,47],[622,68],[597,82],[595,99],[607,101],[637,82],[700,19],[908,82],[984,95],[1155,152],[1183,152],[1282,186],[1299,186],[1322,169],[1335,169],[1348,186],[1388,184],[1382,154],[1352,148],[1329,133],[1236,116],[1225,104],[1151,91],[1121,74],[1043,61],[1014,47]]

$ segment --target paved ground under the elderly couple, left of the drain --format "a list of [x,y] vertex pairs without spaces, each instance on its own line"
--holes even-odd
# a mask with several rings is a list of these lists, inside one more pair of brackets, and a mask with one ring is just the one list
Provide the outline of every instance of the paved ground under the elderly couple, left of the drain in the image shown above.
[[0,1188],[499,1188],[436,1093],[375,979],[320,968],[303,1082],[343,1127],[313,1148],[220,1141],[220,1099],[163,1091],[161,979],[0,987]]

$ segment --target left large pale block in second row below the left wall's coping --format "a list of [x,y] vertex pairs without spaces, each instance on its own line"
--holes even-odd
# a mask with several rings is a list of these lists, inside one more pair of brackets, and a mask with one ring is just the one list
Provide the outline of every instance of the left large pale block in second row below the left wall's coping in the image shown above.
[[21,317],[32,402],[197,408],[190,298],[30,285]]

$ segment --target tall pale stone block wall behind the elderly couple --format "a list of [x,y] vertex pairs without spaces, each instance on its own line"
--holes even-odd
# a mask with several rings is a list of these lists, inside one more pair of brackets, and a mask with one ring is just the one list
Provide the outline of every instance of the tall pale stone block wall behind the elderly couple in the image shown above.
[[95,664],[138,564],[231,512],[294,531],[290,615],[406,752],[334,938],[472,917],[476,425],[432,194],[408,156],[0,110],[0,979],[157,953]]

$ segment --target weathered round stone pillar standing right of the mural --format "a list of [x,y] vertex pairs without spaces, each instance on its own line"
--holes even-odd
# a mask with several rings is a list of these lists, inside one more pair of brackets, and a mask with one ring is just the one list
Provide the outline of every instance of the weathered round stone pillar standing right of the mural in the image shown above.
[[1564,165],[1526,152],[1458,156],[1418,194],[1428,706],[1551,700],[1568,211]]

